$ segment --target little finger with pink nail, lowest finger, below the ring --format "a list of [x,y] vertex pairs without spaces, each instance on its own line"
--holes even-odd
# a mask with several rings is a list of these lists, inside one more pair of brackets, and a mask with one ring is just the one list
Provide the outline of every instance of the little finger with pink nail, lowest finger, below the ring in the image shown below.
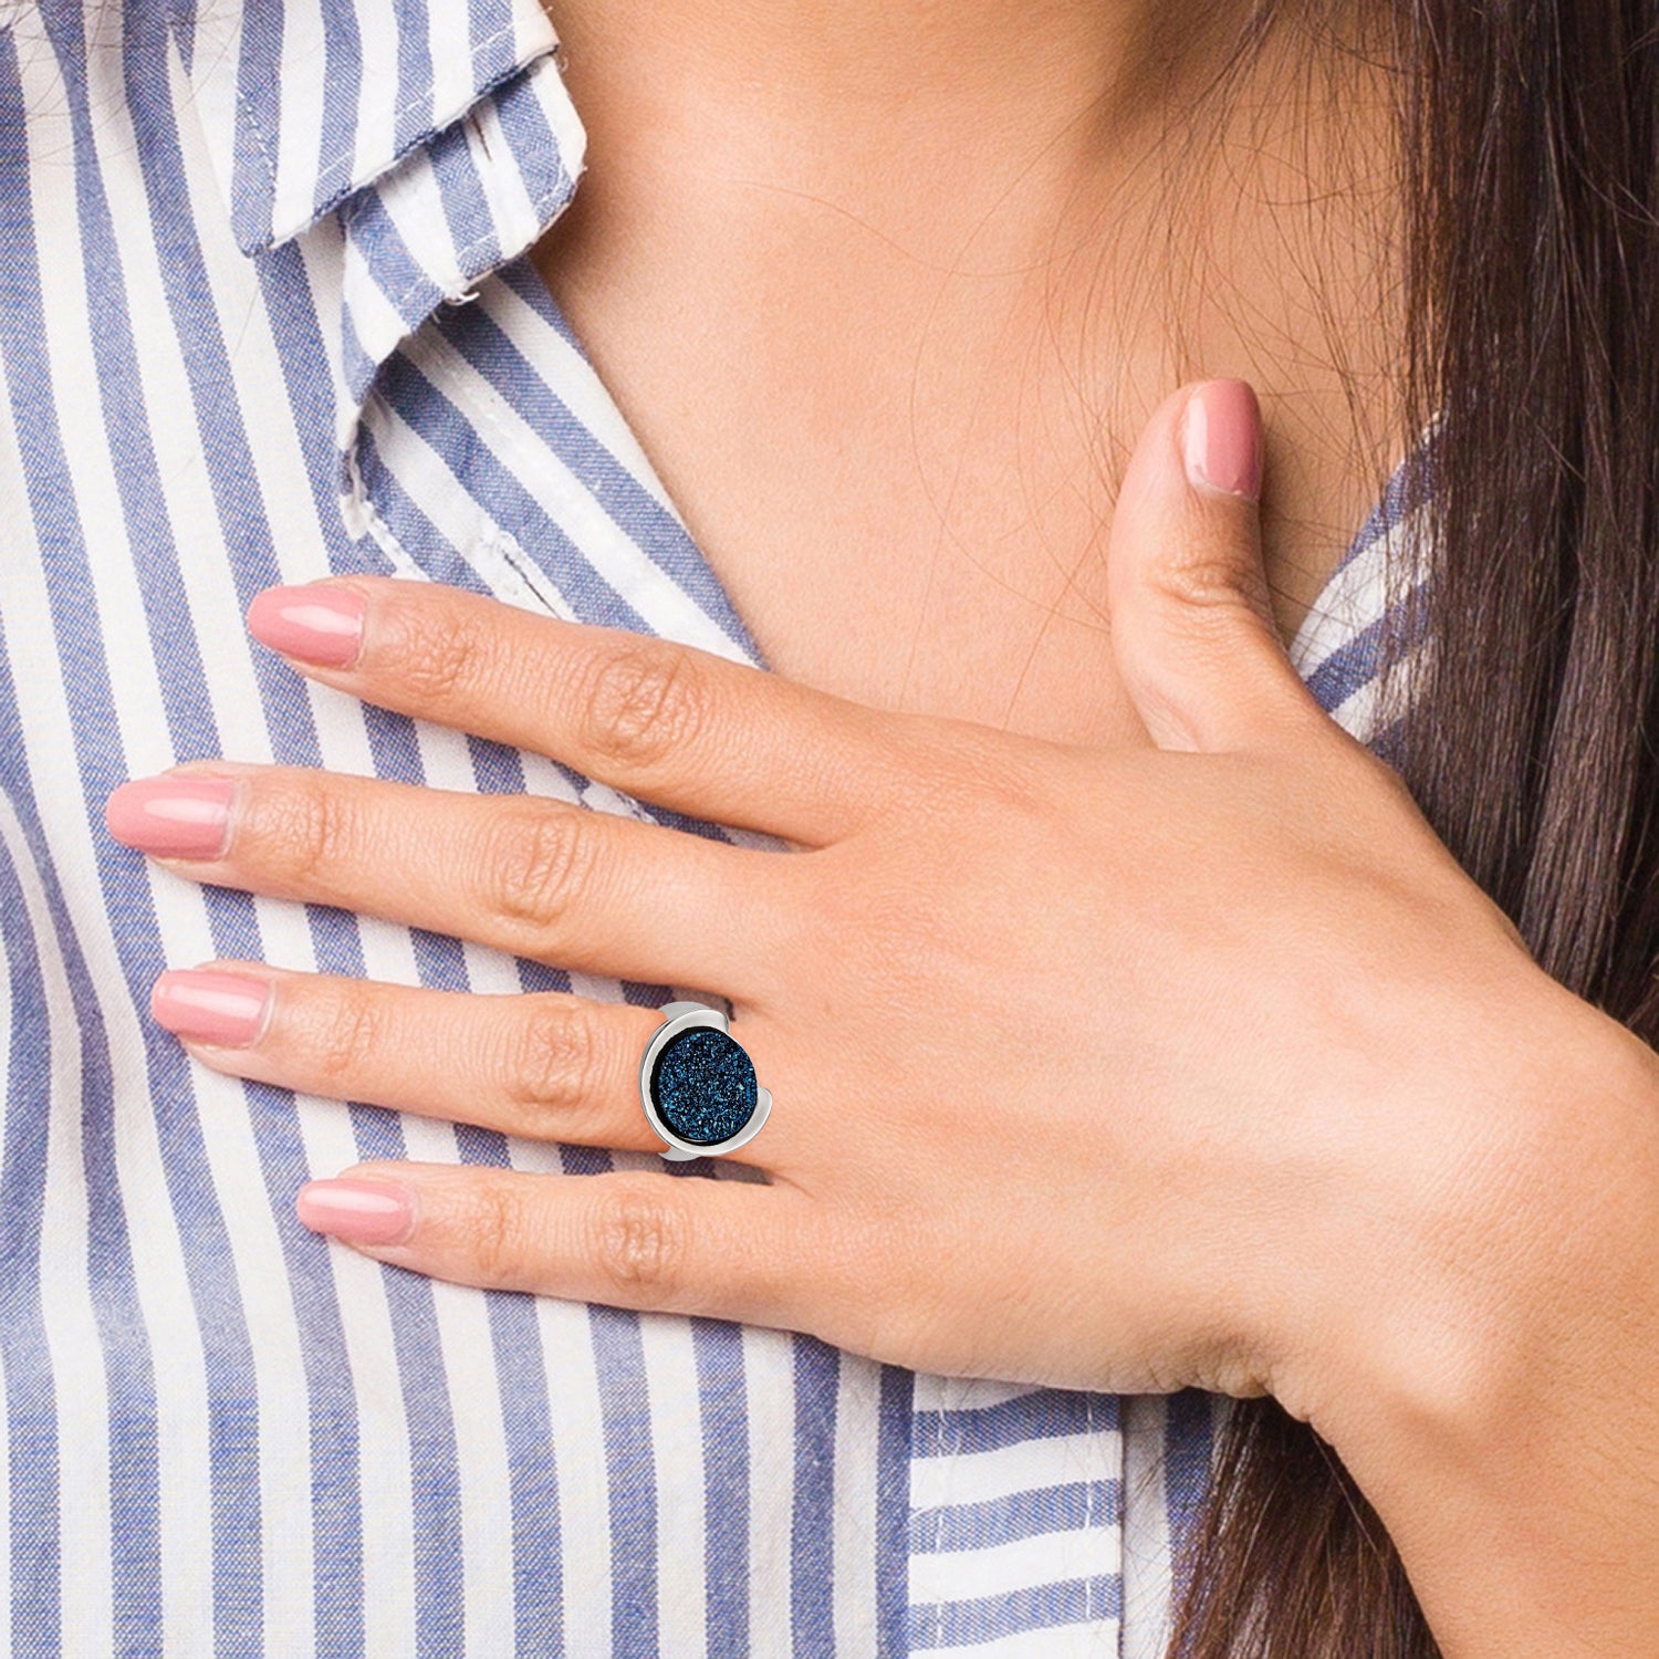
[[783,1181],[378,1163],[307,1183],[295,1211],[436,1279],[614,1307],[805,1329],[821,1286],[816,1209]]

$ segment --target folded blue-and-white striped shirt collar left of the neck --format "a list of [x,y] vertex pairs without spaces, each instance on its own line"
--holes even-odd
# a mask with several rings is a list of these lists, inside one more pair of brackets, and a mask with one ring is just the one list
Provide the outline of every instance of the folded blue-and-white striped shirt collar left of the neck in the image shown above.
[[382,365],[576,192],[557,36],[542,0],[178,0],[173,27],[237,246],[300,252],[360,534],[353,446]]

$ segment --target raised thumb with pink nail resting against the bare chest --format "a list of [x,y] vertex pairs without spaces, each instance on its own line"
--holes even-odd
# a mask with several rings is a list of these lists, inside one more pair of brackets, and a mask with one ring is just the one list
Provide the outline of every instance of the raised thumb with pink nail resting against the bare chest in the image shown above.
[[1324,718],[1274,629],[1261,469],[1256,393],[1204,380],[1158,406],[1125,473],[1107,552],[1112,644],[1160,748],[1251,748]]

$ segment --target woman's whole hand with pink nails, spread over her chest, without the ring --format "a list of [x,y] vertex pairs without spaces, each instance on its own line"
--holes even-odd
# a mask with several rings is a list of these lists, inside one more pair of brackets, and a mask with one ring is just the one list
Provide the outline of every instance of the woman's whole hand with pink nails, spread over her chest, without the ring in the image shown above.
[[[255,632],[327,685],[791,846],[292,768],[116,791],[113,833],[181,876],[723,994],[775,1095],[732,1155],[766,1181],[390,1163],[312,1183],[302,1219],[468,1284],[1306,1413],[1354,1352],[1457,1335],[1425,1286],[1545,1133],[1511,1052],[1581,1005],[1291,669],[1259,453],[1239,383],[1151,420],[1110,547],[1146,742],[1110,752],[438,586],[262,596]],[[168,974],[154,1009],[221,1072],[660,1148],[654,1010],[257,964]]]

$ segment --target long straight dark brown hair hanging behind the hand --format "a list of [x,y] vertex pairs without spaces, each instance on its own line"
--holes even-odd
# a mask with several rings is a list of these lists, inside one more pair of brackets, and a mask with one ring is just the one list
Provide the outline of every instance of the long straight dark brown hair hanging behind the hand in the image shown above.
[[[1438,416],[1412,474],[1430,655],[1389,758],[1538,962],[1654,1042],[1659,0],[1372,3],[1408,430]],[[1229,1408],[1188,1543],[1180,1659],[1438,1652],[1375,1513],[1272,1400]]]

